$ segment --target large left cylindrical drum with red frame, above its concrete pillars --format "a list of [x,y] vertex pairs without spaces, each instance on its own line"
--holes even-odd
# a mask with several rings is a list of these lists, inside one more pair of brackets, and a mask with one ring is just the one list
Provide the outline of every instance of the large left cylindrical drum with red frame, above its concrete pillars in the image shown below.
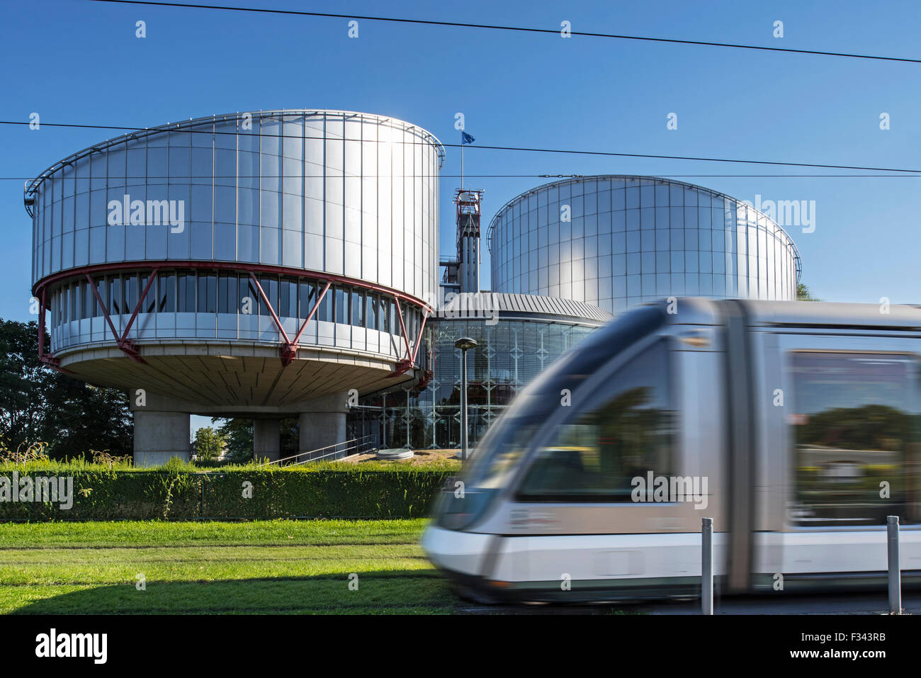
[[65,158],[26,188],[45,361],[215,405],[414,378],[443,160],[410,123],[312,110],[168,124]]

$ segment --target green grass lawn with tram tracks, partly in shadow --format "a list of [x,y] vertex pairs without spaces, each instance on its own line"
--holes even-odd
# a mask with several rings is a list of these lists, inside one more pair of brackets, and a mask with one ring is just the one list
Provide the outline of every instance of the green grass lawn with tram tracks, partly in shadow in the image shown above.
[[[0,614],[439,614],[418,520],[0,525]],[[357,590],[349,575],[358,576]],[[137,590],[137,575],[146,590]]]

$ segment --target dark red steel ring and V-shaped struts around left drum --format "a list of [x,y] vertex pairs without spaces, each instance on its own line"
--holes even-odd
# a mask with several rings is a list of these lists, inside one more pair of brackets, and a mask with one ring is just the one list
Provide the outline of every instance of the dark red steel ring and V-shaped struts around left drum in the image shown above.
[[[54,275],[49,275],[42,278],[35,284],[35,286],[33,286],[32,293],[36,298],[39,299],[39,360],[45,365],[51,366],[52,368],[61,371],[68,371],[61,368],[61,361],[58,358],[54,357],[51,353],[45,353],[44,336],[45,311],[48,309],[47,293],[49,288],[57,283],[78,278],[80,275],[85,275],[90,289],[93,290],[93,294],[96,297],[96,300],[99,302],[99,308],[102,309],[102,315],[105,317],[106,322],[109,324],[109,329],[111,330],[112,336],[115,340],[115,345],[117,345],[122,350],[122,353],[124,353],[127,357],[134,360],[134,362],[146,364],[144,358],[141,356],[140,347],[134,342],[134,340],[128,338],[128,333],[131,331],[131,328],[134,325],[134,321],[137,319],[138,313],[140,313],[141,309],[143,308],[144,299],[147,296],[147,292],[150,291],[150,286],[153,285],[154,280],[157,277],[157,273],[161,268],[168,268],[170,270],[192,268],[213,271],[234,271],[236,273],[249,274],[253,285],[259,291],[262,302],[271,313],[275,328],[278,330],[278,333],[282,338],[280,357],[284,367],[290,365],[291,361],[297,357],[297,349],[300,347],[300,337],[304,333],[304,330],[307,329],[307,324],[309,321],[313,319],[313,316],[320,308],[321,301],[326,296],[326,293],[329,291],[333,283],[342,283],[349,286],[363,287],[365,289],[378,292],[385,297],[393,298],[396,304],[397,317],[400,319],[400,329],[402,332],[404,345],[406,346],[406,355],[397,362],[391,377],[396,377],[398,375],[404,374],[413,368],[413,365],[415,364],[415,358],[419,353],[419,345],[422,341],[422,333],[426,329],[426,320],[428,319],[429,313],[432,311],[432,307],[426,304],[426,302],[422,299],[415,298],[412,295],[405,294],[399,290],[393,289],[392,287],[377,285],[375,283],[368,283],[367,281],[356,280],[355,278],[346,277],[344,275],[333,275],[319,271],[304,271],[300,269],[286,268],[285,266],[271,266],[261,263],[202,261],[99,263],[91,266],[71,268]],[[134,311],[131,314],[131,319],[128,321],[128,324],[125,325],[122,333],[119,334],[115,329],[115,323],[111,321],[109,310],[106,309],[106,305],[102,302],[102,296],[99,294],[99,289],[96,286],[96,281],[93,280],[93,275],[111,273],[114,271],[143,271],[148,269],[151,270],[151,273],[147,278],[146,285],[144,286],[144,291],[141,292],[140,297],[137,299],[137,303],[134,305]],[[288,275],[296,278],[309,278],[311,280],[326,281],[326,286],[323,287],[321,293],[317,296],[317,299],[314,301],[313,306],[307,315],[307,318],[301,323],[300,329],[297,331],[294,339],[291,339],[285,332],[285,328],[282,326],[282,322],[279,320],[278,314],[272,307],[268,296],[262,289],[262,285],[260,284],[259,279],[256,277],[256,274]],[[406,336],[406,325],[403,323],[402,306],[400,305],[401,299],[410,306],[417,307],[422,311],[422,321],[419,323],[419,333],[415,337],[413,348],[410,347],[409,337]]]

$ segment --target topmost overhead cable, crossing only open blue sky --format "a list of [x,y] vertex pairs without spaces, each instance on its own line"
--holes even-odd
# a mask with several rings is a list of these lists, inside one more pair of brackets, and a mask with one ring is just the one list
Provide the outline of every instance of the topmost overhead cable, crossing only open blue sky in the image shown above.
[[[92,0],[93,2],[118,3],[120,5],[148,5],[161,7],[181,7],[186,9],[217,9],[233,12],[255,12],[259,14],[279,14],[297,17],[321,17],[321,18],[353,18],[364,21],[388,21],[391,23],[402,24],[420,24],[424,26],[446,26],[463,29],[490,29],[506,30],[522,33],[543,33],[560,35],[560,29],[535,29],[525,26],[502,26],[498,24],[473,24],[461,21],[435,21],[432,19],[422,18],[398,18],[398,17],[367,17],[356,14],[333,14],[332,12],[304,12],[295,9],[266,9],[264,7],[232,7],[223,5],[197,5],[192,3],[159,3],[144,2],[143,0]],[[874,59],[877,61],[896,61],[909,64],[921,64],[921,59],[908,59],[897,56],[880,56],[879,54],[857,54],[847,52],[822,52],[820,50],[794,50],[787,47],[764,47],[763,45],[743,45],[733,42],[713,42],[700,40],[678,40],[675,38],[653,38],[642,35],[619,35],[616,33],[595,33],[582,30],[569,30],[569,35],[577,35],[583,38],[606,38],[609,40],[633,40],[648,42],[670,42],[672,44],[682,45],[702,45],[705,47],[724,47],[736,50],[757,50],[763,52],[784,52],[794,54],[814,54],[819,56],[842,56],[852,59]]]

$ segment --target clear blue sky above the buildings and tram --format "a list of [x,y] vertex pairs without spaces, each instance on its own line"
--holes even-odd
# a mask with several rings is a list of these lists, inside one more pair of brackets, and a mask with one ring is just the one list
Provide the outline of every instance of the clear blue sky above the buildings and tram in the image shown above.
[[[232,4],[232,3],[228,3]],[[267,6],[358,15],[921,57],[916,2],[337,3]],[[766,158],[921,169],[921,64],[612,41],[482,29],[121,6],[70,0],[6,4],[0,119],[153,126],[275,108],[392,115],[456,143],[454,114],[490,146]],[[134,23],[146,21],[146,39]],[[775,20],[785,37],[772,36]],[[678,129],[666,116],[678,115]],[[888,112],[891,129],[880,130]],[[33,177],[115,136],[105,130],[0,125],[0,176]],[[449,148],[441,180],[441,251],[453,240],[447,199],[458,180]],[[631,173],[676,176],[740,199],[815,201],[814,232],[788,228],[803,281],[834,301],[921,302],[921,177],[694,176],[825,170],[471,149],[472,174]],[[484,224],[509,198],[550,180],[475,178]],[[0,317],[29,319],[29,217],[22,179],[0,181]],[[489,261],[484,260],[484,287]]]

